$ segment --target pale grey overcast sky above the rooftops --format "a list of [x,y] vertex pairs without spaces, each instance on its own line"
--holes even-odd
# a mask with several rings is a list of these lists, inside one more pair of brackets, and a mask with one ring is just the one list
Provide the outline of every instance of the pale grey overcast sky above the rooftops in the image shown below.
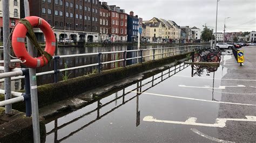
[[[173,20],[179,26],[213,26],[215,31],[217,0],[104,0],[120,6],[126,13],[132,10],[143,20],[153,17]],[[217,32],[256,31],[256,0],[220,0]]]

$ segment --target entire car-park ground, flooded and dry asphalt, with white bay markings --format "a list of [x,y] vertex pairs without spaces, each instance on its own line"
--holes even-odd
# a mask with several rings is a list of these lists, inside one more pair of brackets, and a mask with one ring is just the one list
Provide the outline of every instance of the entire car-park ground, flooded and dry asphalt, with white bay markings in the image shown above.
[[50,121],[46,142],[256,141],[256,79],[232,76],[233,61],[193,77],[181,63],[120,89]]

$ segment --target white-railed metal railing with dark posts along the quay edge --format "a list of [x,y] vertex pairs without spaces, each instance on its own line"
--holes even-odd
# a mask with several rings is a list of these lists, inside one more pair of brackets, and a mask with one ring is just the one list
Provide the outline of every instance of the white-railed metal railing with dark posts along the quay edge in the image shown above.
[[[143,58],[152,58],[152,60],[165,58],[167,56],[171,55],[178,55],[183,54],[187,52],[192,52],[195,49],[206,47],[209,45],[187,45],[187,46],[178,46],[178,47],[163,47],[163,48],[149,48],[149,49],[134,49],[134,50],[127,50],[127,51],[113,51],[113,52],[97,52],[97,53],[86,53],[86,54],[72,54],[72,55],[56,55],[53,56],[53,70],[50,71],[44,71],[42,73],[37,73],[36,76],[42,76],[42,75],[48,75],[53,74],[54,82],[58,82],[58,73],[64,72],[64,71],[70,71],[70,70],[76,70],[76,69],[83,69],[87,67],[97,67],[98,73],[102,71],[102,66],[107,65],[110,63],[116,63],[116,62],[123,62],[123,67],[126,67],[126,62],[129,60],[138,60],[139,62],[143,62]],[[143,54],[146,51],[149,51],[147,53],[150,53],[148,55]],[[135,54],[134,57],[127,57],[127,53],[136,52],[138,54]],[[102,56],[106,54],[122,54],[123,58],[119,60],[111,60],[111,61],[104,61],[102,62]],[[97,56],[98,62],[92,63],[89,65],[83,65],[83,66],[75,66],[75,67],[69,67],[69,68],[62,68],[58,69],[58,60],[64,59],[64,58],[77,58],[79,56]],[[21,60],[11,60],[12,63],[15,62],[21,62]],[[0,61],[0,63],[3,63],[3,61]],[[12,75],[10,76],[11,80],[20,80],[24,78],[22,75]],[[4,82],[4,79],[1,79],[0,75],[0,82]]]

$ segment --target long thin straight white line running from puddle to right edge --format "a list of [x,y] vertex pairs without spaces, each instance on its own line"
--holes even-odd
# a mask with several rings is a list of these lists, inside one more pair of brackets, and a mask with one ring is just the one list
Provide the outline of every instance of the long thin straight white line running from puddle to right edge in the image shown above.
[[[137,91],[131,91],[131,92],[137,92]],[[187,100],[192,100],[192,101],[203,101],[203,102],[212,102],[212,103],[222,103],[222,104],[232,104],[232,105],[245,105],[245,106],[256,106],[255,104],[244,104],[244,103],[233,103],[233,102],[221,102],[221,101],[207,101],[205,99],[198,99],[198,98],[188,98],[188,97],[180,97],[180,96],[172,96],[172,95],[161,95],[161,94],[152,94],[148,92],[143,92],[142,94],[147,94],[147,95],[156,95],[156,96],[162,96],[162,97],[170,97],[170,98],[179,98],[179,99],[187,99]]]

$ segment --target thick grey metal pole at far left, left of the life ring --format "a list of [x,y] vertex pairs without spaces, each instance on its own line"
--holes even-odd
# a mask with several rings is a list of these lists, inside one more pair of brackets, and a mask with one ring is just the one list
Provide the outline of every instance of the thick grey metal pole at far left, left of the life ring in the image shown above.
[[[8,37],[10,35],[10,16],[9,16],[9,1],[3,1],[3,44],[4,44],[4,72],[10,71],[10,42],[8,41]],[[4,90],[5,96],[4,99],[11,98],[11,77],[4,78]],[[6,115],[10,115],[12,106],[5,106]]]

